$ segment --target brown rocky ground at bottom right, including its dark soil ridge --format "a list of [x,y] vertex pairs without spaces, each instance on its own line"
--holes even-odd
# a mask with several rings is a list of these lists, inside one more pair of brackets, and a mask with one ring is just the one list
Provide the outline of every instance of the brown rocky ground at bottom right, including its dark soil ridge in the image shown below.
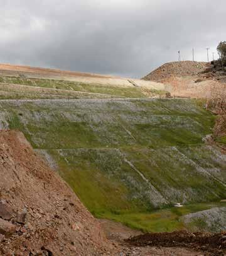
[[226,233],[149,233],[131,230],[121,223],[99,220],[105,235],[121,245],[119,255],[224,255]]

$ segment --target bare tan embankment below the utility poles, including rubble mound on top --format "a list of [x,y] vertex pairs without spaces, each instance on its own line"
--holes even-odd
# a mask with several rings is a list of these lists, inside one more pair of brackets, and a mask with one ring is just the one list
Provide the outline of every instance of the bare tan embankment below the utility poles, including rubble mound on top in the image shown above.
[[171,95],[175,96],[205,99],[226,96],[226,71],[214,63],[170,62],[143,79],[164,83]]

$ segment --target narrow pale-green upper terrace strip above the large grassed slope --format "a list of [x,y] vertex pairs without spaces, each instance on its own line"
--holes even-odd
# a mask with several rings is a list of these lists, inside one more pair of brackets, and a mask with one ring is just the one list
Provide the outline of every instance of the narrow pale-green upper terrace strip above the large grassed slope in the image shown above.
[[[136,84],[130,80],[73,81],[74,78],[0,76],[0,99],[63,99],[63,98],[145,98],[166,93],[163,84]],[[89,78],[90,79],[90,78]],[[103,84],[104,79],[104,84]],[[114,84],[109,84],[114,82]],[[99,83],[98,83],[99,82]],[[119,84],[117,84],[119,83]],[[134,83],[134,84],[132,84]],[[139,80],[139,83],[144,81]]]

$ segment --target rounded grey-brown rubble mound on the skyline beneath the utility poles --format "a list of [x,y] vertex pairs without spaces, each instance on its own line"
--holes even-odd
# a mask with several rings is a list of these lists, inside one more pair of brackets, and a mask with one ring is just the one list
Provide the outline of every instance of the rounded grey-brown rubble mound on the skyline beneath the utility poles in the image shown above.
[[181,76],[196,76],[198,73],[204,71],[208,67],[207,62],[196,61],[177,61],[163,64],[158,69],[155,69],[147,76],[144,76],[146,81],[158,81],[163,82],[164,79],[171,77]]

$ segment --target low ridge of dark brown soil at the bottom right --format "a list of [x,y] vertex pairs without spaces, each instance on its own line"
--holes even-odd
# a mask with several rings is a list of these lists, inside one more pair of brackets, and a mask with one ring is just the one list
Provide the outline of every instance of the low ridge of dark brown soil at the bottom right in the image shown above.
[[210,255],[225,255],[226,232],[222,233],[188,233],[175,231],[173,233],[147,233],[126,240],[136,247],[187,247],[211,253]]

